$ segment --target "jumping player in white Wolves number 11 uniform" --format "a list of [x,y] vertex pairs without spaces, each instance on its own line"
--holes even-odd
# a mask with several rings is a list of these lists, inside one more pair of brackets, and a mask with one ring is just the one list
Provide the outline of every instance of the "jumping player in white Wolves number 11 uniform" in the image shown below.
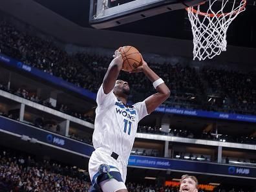
[[164,81],[142,59],[142,66],[133,72],[144,72],[153,82],[157,93],[142,102],[128,106],[129,84],[117,80],[122,67],[122,54],[116,50],[96,98],[98,107],[92,136],[96,150],[89,160],[89,174],[92,181],[90,191],[127,192],[125,186],[127,163],[138,122],[153,112],[170,95]]

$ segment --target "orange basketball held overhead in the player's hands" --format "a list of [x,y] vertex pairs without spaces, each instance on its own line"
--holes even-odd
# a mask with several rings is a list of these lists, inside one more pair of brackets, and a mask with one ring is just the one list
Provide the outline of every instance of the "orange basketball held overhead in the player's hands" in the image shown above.
[[140,65],[142,65],[142,57],[138,49],[133,46],[120,47],[119,51],[123,56],[123,69],[124,71],[131,72]]

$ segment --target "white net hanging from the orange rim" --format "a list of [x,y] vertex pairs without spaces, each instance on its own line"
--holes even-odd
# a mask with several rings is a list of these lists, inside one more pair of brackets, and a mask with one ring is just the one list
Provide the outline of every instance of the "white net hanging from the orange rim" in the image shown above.
[[226,51],[228,27],[245,10],[245,5],[246,0],[209,0],[195,8],[187,8],[193,32],[194,60],[212,59]]

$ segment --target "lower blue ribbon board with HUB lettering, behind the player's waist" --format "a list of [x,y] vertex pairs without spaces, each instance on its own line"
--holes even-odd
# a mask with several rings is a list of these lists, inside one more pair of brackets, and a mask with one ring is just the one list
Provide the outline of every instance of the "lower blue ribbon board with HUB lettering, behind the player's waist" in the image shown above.
[[[78,155],[87,157],[91,156],[92,152],[94,151],[92,145],[84,144],[59,134],[50,133],[25,123],[10,120],[3,116],[0,116],[0,131],[36,138],[38,141],[51,145],[52,147],[58,147],[58,149],[63,149],[65,151],[69,151],[70,153],[75,152]],[[256,179],[256,168],[254,167],[242,167],[137,155],[131,155],[129,157],[128,165],[148,169],[171,169],[173,171]]]

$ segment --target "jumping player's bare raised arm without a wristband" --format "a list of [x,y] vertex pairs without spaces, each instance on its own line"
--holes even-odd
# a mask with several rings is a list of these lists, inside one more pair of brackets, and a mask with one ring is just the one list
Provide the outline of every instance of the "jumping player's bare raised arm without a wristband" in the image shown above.
[[108,94],[114,88],[118,74],[123,67],[122,54],[118,50],[114,52],[114,59],[109,64],[109,68],[103,79],[103,91]]

